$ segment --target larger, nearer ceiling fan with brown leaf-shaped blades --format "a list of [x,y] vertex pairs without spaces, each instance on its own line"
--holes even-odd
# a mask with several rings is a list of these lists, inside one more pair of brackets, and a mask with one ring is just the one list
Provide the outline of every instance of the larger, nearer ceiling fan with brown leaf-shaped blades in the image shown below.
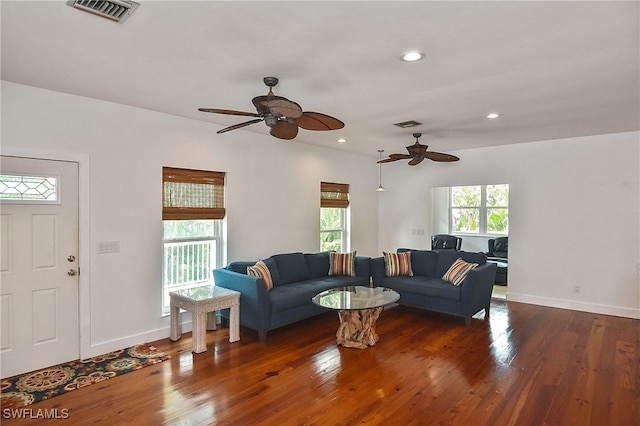
[[265,96],[256,96],[251,102],[257,112],[234,111],[230,109],[198,108],[198,111],[214,114],[241,115],[257,117],[243,123],[220,129],[217,133],[240,129],[250,124],[264,121],[271,128],[271,135],[280,139],[293,139],[298,134],[298,128],[306,130],[337,130],[344,127],[344,123],[337,118],[319,112],[302,111],[296,102],[273,94],[273,87],[278,84],[276,77],[265,77],[264,84],[269,87]]

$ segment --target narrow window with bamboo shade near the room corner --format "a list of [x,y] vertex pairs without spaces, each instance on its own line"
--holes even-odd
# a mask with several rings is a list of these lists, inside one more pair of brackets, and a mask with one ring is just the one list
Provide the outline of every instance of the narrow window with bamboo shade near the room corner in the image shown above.
[[349,251],[349,185],[320,182],[320,251]]

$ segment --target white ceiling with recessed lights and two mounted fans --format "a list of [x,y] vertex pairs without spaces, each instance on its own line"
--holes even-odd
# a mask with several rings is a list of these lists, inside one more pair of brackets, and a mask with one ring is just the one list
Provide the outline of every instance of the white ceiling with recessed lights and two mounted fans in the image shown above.
[[[220,139],[248,118],[197,108],[253,112],[276,76],[275,94],[346,124],[290,143],[375,157],[416,131],[449,152],[640,128],[637,1],[140,3],[118,24],[3,0],[2,79],[206,121]],[[400,61],[414,48],[427,57]],[[408,120],[423,125],[393,125]]]

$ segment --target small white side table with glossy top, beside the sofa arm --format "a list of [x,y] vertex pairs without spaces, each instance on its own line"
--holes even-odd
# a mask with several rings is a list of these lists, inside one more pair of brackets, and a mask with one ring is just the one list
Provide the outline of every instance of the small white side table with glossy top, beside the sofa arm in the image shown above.
[[229,341],[240,340],[240,293],[223,287],[206,285],[187,290],[172,291],[169,310],[171,313],[171,340],[176,341],[182,334],[180,308],[191,312],[193,352],[207,350],[207,330],[216,329],[215,313],[230,308]]

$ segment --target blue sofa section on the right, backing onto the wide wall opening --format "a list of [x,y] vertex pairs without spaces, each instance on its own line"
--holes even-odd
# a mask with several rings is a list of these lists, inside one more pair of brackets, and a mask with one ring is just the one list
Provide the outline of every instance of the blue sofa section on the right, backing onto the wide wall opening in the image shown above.
[[[457,250],[411,250],[413,276],[387,277],[384,257],[371,259],[371,276],[375,286],[392,288],[400,293],[400,305],[414,306],[433,311],[462,316],[465,325],[471,325],[471,317],[484,309],[489,315],[491,292],[496,275],[496,265],[487,263],[483,253]],[[460,286],[442,279],[449,267],[458,259],[477,263]]]

